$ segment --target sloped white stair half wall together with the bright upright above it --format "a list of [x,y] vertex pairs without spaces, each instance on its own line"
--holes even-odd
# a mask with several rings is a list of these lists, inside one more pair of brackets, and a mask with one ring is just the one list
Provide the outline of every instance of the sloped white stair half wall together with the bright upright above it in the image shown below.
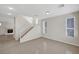
[[23,37],[21,37],[20,43],[23,43],[23,42],[26,42],[29,40],[33,40],[33,39],[37,39],[42,36],[41,22],[38,21],[37,18],[34,18],[33,25],[34,25],[33,28],[31,30],[29,30],[28,33],[26,33]]

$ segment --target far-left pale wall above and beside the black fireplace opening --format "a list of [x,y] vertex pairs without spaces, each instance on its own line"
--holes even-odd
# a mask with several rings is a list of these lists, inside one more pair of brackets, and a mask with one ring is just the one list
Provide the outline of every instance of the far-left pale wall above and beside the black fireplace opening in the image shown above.
[[13,17],[0,17],[0,35],[7,35],[7,29],[13,29],[14,30],[14,18]]

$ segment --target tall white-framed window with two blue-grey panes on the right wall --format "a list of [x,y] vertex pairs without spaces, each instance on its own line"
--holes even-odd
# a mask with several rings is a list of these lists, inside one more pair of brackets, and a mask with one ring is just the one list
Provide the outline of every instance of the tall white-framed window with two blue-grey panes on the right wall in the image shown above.
[[74,38],[75,17],[68,17],[66,19],[66,34],[68,37]]

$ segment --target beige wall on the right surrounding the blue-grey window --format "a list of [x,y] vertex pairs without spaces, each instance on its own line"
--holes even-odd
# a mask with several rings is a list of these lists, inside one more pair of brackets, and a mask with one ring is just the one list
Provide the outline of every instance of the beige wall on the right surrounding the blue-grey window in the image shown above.
[[[74,39],[66,36],[66,18],[70,16],[75,16],[76,20],[76,36]],[[47,33],[44,34],[44,37],[79,46],[79,11],[66,15],[50,17],[43,21],[47,21]]]

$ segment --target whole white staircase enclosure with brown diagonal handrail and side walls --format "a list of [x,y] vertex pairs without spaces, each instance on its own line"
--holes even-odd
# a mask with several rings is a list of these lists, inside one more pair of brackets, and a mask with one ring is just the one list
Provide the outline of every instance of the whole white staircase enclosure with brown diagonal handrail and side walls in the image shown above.
[[35,24],[35,20],[26,16],[16,17],[15,39],[23,43],[41,37],[41,25]]

